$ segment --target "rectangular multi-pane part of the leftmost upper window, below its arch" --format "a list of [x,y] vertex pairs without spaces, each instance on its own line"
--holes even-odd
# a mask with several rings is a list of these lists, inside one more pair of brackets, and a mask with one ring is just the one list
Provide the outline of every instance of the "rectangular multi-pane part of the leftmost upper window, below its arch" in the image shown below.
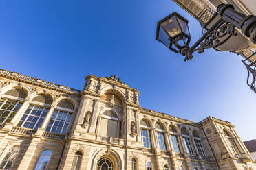
[[12,117],[21,108],[21,101],[12,101],[10,99],[0,100],[0,124],[9,123]]

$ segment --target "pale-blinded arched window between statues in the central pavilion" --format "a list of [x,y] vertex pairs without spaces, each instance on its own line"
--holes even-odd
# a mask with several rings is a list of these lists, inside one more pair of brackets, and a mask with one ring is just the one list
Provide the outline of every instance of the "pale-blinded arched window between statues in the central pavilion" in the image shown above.
[[100,136],[118,138],[118,115],[114,110],[105,110],[100,121]]

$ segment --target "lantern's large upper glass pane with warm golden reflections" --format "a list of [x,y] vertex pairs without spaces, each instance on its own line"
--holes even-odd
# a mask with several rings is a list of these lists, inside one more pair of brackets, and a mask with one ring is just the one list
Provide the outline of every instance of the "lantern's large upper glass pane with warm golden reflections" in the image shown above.
[[161,23],[160,26],[164,28],[170,37],[174,37],[182,32],[175,16],[171,16],[169,19]]

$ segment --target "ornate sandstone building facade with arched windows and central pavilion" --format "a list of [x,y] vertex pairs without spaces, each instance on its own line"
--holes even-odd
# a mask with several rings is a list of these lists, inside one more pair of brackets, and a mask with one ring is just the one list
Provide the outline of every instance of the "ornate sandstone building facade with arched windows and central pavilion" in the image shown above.
[[0,169],[256,169],[234,125],[142,108],[116,77],[83,90],[0,69]]

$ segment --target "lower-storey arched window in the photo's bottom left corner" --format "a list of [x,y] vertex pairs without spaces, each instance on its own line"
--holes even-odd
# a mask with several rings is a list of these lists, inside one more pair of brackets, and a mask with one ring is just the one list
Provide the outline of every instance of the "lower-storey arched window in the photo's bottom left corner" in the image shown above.
[[19,147],[15,146],[8,150],[6,156],[1,161],[0,169],[12,169],[19,154]]

